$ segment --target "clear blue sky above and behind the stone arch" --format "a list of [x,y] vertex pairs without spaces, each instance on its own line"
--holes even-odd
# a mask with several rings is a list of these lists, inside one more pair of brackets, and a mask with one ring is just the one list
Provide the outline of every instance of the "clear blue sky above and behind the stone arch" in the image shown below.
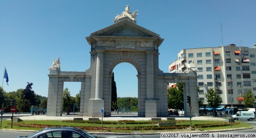
[[[48,94],[48,68],[60,57],[61,71],[90,67],[85,37],[113,25],[126,5],[137,13],[137,25],[164,38],[159,68],[177,59],[182,49],[256,43],[256,0],[1,0],[0,70],[9,75],[6,92],[32,82],[36,94]],[[118,97],[137,97],[134,66],[120,63],[113,70]],[[72,96],[81,83],[64,83]]]

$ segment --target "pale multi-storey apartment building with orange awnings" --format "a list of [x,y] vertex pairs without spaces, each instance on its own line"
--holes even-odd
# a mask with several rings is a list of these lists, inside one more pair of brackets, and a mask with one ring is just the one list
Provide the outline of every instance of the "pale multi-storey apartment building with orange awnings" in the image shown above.
[[[169,73],[184,73],[184,63],[193,62],[198,69],[199,99],[207,105],[204,93],[213,88],[229,108],[243,108],[243,93],[248,89],[256,95],[256,44],[253,48],[235,44],[219,47],[183,49],[178,60],[169,65]],[[169,84],[169,86],[175,83]]]

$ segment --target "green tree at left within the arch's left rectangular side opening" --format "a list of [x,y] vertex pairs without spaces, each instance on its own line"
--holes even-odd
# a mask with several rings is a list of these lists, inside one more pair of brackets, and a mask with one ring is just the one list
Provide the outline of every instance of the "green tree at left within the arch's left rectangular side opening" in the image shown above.
[[73,109],[73,98],[70,95],[70,91],[68,91],[67,88],[64,89],[63,91],[63,104],[62,104],[62,109],[63,111],[68,111]]

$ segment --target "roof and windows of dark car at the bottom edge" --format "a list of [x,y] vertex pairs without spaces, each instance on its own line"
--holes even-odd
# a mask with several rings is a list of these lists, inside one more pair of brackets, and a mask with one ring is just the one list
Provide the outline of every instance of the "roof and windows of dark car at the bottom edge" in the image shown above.
[[18,138],[97,138],[76,127],[49,127]]

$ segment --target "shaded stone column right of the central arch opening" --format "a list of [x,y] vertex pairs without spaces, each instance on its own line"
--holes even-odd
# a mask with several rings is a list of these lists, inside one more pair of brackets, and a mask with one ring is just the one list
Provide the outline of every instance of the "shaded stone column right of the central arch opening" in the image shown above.
[[153,52],[147,53],[147,100],[154,99],[154,67]]

